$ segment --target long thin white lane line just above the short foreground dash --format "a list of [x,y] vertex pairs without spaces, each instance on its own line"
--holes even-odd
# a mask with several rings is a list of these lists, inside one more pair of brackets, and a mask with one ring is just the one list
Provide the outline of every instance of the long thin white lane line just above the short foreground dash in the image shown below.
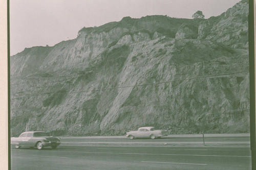
[[119,154],[119,155],[167,155],[167,156],[212,156],[212,157],[251,157],[251,156],[236,156],[236,155],[185,155],[185,154],[144,154],[144,153],[114,153],[114,152],[81,152],[81,151],[55,151],[68,153],[88,153],[88,154]]

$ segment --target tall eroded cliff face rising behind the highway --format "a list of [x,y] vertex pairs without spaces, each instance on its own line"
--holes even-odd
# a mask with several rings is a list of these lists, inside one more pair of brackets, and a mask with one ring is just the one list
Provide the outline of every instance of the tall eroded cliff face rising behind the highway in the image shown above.
[[[124,17],[11,57],[11,133],[249,132],[248,3],[218,17]],[[231,27],[232,26],[232,27]]]

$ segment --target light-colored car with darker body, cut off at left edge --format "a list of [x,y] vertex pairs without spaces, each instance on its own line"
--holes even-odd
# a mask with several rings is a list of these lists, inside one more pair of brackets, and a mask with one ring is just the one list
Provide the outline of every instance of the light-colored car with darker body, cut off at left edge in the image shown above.
[[36,147],[38,150],[44,147],[56,149],[60,144],[60,138],[49,136],[45,132],[29,131],[23,132],[19,137],[11,137],[11,144],[17,149],[20,147]]

